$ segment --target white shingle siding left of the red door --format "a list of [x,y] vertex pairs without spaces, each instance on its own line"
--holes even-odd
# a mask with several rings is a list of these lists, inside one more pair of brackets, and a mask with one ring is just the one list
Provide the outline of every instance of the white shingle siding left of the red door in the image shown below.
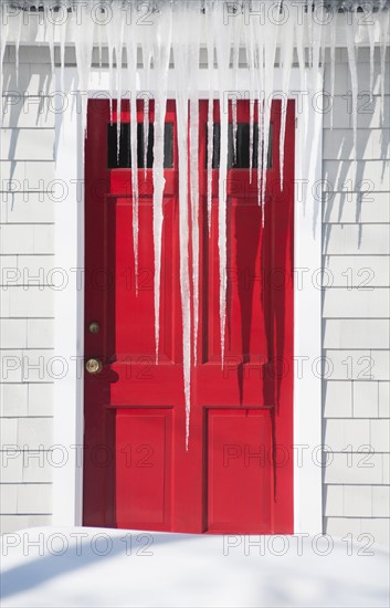
[[[42,55],[31,51],[24,61]],[[53,88],[48,74],[46,64],[24,63],[17,84],[13,64],[3,70],[12,95],[0,134],[2,532],[50,524],[52,513],[55,114],[42,97]]]

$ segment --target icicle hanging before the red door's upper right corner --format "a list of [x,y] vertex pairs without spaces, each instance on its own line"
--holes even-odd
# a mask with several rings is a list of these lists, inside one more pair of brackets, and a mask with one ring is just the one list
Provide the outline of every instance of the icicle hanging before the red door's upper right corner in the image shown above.
[[[284,4],[287,8],[287,14],[292,14],[292,6]],[[281,190],[283,190],[283,171],[284,171],[284,140],[286,132],[286,113],[287,97],[289,92],[289,76],[292,71],[293,52],[294,52],[294,20],[288,19],[283,29],[283,44],[281,50],[282,59],[282,107],[281,107],[281,136],[280,136],[280,172],[281,172]]]

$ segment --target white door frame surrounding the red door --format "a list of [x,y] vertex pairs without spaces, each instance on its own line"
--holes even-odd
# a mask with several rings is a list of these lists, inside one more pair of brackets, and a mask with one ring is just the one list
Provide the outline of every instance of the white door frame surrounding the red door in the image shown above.
[[[55,268],[66,282],[54,292],[54,358],[65,374],[54,377],[53,448],[62,454],[53,467],[53,524],[82,525],[84,412],[84,139],[81,99],[107,98],[108,70],[92,70],[92,86],[80,92],[76,67],[65,67],[55,82]],[[140,85],[143,70],[139,70]],[[208,71],[200,70],[200,98],[207,98]],[[202,87],[202,78],[204,85]],[[281,91],[275,70],[274,92]],[[152,83],[151,88],[152,88]],[[139,86],[139,90],[143,86]],[[231,92],[247,95],[247,70],[239,72]],[[322,137],[323,88],[319,75],[292,70],[291,97],[296,98],[294,197],[294,534],[323,532],[322,462]],[[168,98],[175,86],[168,77]],[[246,97],[247,98],[247,97]],[[304,119],[305,117],[305,119]],[[307,134],[307,135],[306,135]],[[306,138],[306,139],[305,139]],[[309,144],[309,145],[308,145]],[[60,195],[61,192],[61,195]],[[61,197],[61,198],[60,198]],[[77,270],[78,269],[78,270]],[[54,461],[54,459],[53,459]]]

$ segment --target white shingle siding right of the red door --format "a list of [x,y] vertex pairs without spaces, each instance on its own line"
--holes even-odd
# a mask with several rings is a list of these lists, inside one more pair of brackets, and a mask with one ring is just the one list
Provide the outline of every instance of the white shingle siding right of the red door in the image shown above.
[[[359,57],[367,61],[367,52],[359,51]],[[338,51],[338,61],[347,62],[345,51]],[[329,285],[323,294],[323,347],[333,369],[324,380],[323,411],[324,441],[334,452],[324,476],[324,530],[340,536],[351,533],[355,538],[369,533],[388,544],[389,80],[382,129],[380,96],[370,102],[363,93],[369,88],[369,65],[358,66],[361,95],[355,159],[345,97],[351,91],[349,71],[346,63],[336,70],[339,97],[334,129],[328,117],[324,122],[324,179],[331,186],[326,185],[323,212],[324,284]],[[380,93],[378,65],[375,93]],[[363,453],[365,444],[372,453]]]

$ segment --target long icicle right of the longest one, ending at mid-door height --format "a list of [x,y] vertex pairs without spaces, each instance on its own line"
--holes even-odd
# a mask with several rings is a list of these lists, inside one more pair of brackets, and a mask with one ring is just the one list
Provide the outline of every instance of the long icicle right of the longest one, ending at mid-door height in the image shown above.
[[[223,23],[223,6],[213,4],[215,31]],[[226,178],[228,178],[228,126],[229,115],[223,108],[223,94],[229,91],[229,63],[231,46],[231,23],[230,20],[224,28],[224,35],[217,35],[217,61],[219,73],[219,94],[220,94],[220,125],[221,125],[221,145],[220,145],[220,170],[218,184],[218,247],[220,256],[220,332],[221,332],[221,365],[224,365],[224,338],[226,324]]]

